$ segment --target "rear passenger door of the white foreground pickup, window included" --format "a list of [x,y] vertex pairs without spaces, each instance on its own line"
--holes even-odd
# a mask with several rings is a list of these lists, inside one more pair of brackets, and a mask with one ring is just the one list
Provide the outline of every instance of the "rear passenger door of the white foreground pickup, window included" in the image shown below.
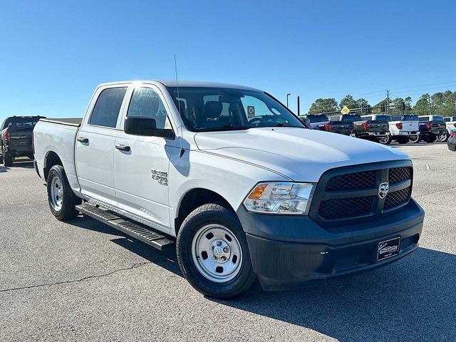
[[100,88],[90,103],[91,113],[84,118],[76,137],[76,170],[81,192],[112,205],[117,204],[114,145],[127,89],[125,85]]

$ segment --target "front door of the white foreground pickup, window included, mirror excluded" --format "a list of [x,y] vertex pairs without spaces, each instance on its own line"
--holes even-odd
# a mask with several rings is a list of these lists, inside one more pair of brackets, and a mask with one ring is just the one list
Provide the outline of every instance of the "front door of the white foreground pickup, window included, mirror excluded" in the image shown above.
[[[154,118],[157,128],[171,128],[167,111],[160,90],[147,85],[133,89],[126,115]],[[180,148],[175,140],[128,135],[123,130],[115,139],[115,147],[114,184],[118,207],[166,231],[170,227],[169,156],[178,153]]]

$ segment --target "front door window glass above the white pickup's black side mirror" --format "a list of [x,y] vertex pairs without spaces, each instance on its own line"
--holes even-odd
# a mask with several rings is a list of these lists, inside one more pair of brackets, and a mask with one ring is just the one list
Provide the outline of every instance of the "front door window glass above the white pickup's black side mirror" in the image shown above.
[[[182,108],[181,108],[182,110]],[[162,99],[152,88],[135,88],[127,112],[128,117],[155,119],[157,128],[171,128]]]

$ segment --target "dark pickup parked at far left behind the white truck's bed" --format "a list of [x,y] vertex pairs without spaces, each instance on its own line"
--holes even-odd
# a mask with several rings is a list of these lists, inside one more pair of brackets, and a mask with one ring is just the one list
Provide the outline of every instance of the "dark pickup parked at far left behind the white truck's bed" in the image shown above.
[[14,158],[33,160],[32,131],[42,116],[11,116],[0,127],[0,163],[13,166]]

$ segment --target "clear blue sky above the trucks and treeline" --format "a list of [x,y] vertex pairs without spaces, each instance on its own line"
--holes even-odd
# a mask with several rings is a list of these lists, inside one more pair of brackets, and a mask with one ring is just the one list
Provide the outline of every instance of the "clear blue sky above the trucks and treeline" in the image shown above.
[[291,93],[292,110],[300,95],[301,113],[348,93],[416,100],[456,90],[455,14],[455,1],[0,0],[0,120],[81,117],[98,83],[174,78],[174,53],[181,79]]

